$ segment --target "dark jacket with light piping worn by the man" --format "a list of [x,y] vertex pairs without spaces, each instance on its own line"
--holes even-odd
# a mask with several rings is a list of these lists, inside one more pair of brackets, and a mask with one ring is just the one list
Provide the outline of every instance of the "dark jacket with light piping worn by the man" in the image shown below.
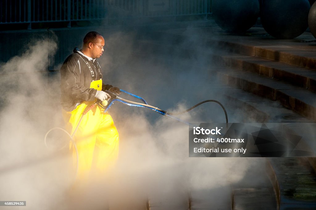
[[[90,88],[90,83],[102,79],[101,67],[96,60],[90,61],[75,48],[74,53],[64,61],[60,74],[60,103],[64,110],[72,111],[83,101],[94,101],[97,90]],[[113,86],[102,83],[102,90],[111,87]]]

